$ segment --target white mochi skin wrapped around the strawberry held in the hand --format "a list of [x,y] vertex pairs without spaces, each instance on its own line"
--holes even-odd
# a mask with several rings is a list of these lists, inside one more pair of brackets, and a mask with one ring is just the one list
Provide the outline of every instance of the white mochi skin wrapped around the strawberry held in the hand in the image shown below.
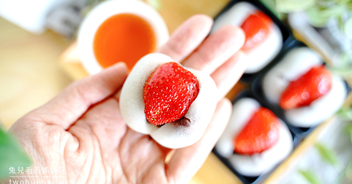
[[161,127],[149,123],[144,114],[143,88],[147,78],[160,65],[175,62],[161,53],[142,57],[128,75],[120,95],[121,114],[128,127],[136,132],[150,135],[167,148],[181,148],[198,141],[207,128],[218,96],[213,79],[202,71],[185,68],[199,81],[199,94],[184,116],[190,120],[187,126],[169,122]]

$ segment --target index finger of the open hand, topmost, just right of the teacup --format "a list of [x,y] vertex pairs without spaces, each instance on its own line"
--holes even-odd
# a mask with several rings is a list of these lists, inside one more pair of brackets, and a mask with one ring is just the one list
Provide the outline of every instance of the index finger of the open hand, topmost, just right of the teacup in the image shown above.
[[158,52],[180,62],[202,43],[212,25],[213,19],[207,15],[193,15],[172,33],[169,41]]

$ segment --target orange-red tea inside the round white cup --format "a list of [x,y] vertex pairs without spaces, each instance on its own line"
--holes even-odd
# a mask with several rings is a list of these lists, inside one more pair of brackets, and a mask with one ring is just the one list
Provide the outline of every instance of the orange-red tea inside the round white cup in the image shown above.
[[144,19],[133,14],[117,14],[96,31],[94,54],[103,68],[122,61],[131,70],[141,57],[155,50],[155,42],[155,34]]

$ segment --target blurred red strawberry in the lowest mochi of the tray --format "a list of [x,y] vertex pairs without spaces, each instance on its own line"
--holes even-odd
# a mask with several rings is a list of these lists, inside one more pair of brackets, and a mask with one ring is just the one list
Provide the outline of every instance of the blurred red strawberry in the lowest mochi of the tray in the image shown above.
[[279,121],[269,109],[260,107],[235,137],[234,151],[252,155],[262,153],[279,140]]

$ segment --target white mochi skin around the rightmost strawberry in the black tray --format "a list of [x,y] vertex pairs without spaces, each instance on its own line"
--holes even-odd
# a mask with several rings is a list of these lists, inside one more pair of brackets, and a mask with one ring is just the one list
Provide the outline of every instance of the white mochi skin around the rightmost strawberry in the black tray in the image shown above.
[[[317,53],[308,47],[291,50],[272,68],[263,79],[266,98],[278,104],[279,98],[290,81],[294,81],[313,66],[323,64]],[[294,126],[311,127],[318,125],[338,111],[346,99],[347,91],[342,78],[332,76],[331,90],[314,100],[309,106],[285,111],[287,120]]]

